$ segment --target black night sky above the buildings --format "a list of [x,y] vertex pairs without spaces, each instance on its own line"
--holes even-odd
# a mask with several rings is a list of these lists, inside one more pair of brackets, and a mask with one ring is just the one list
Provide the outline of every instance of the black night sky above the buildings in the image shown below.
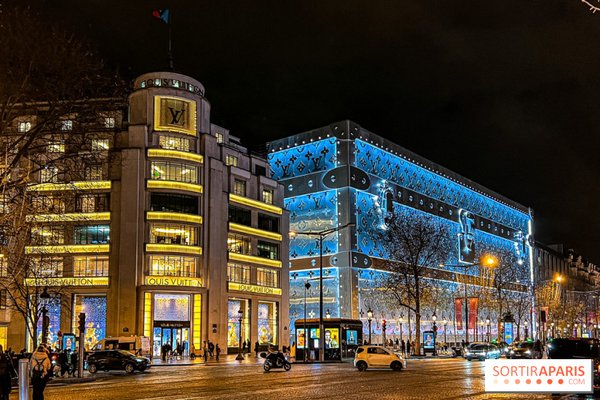
[[169,8],[176,71],[246,145],[351,119],[600,263],[600,13],[580,0],[29,3],[127,79],[166,69]]

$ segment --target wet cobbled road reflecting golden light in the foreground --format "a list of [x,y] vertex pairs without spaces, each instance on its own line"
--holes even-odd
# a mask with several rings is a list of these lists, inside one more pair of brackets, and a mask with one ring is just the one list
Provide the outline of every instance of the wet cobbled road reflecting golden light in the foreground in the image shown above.
[[[46,400],[175,399],[552,399],[486,394],[483,363],[409,360],[401,372],[358,372],[351,364],[302,365],[264,373],[255,362],[153,367],[145,373],[98,373],[95,382],[54,385]],[[563,397],[575,398],[576,396]],[[11,399],[17,399],[13,392]],[[556,398],[556,397],[555,397]]]

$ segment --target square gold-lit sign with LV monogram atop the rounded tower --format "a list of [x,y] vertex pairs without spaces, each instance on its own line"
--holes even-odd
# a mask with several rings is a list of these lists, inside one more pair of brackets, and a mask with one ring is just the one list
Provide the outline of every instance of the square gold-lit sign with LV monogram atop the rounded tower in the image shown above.
[[154,97],[154,130],[196,136],[196,102],[178,97]]

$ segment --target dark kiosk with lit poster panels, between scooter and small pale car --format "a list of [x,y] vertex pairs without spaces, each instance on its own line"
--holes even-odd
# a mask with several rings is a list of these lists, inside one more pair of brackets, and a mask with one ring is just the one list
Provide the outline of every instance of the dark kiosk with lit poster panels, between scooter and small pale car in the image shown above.
[[325,352],[325,361],[354,358],[363,341],[363,324],[359,319],[325,318],[323,334],[318,318],[297,319],[295,329],[297,362],[318,360],[321,351]]

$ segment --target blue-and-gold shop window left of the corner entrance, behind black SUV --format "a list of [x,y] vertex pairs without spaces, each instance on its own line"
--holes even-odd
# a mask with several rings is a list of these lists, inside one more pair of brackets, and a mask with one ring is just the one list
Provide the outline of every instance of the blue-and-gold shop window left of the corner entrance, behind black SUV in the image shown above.
[[79,336],[79,314],[85,313],[84,347],[90,350],[93,345],[106,337],[106,296],[75,295],[72,327]]

